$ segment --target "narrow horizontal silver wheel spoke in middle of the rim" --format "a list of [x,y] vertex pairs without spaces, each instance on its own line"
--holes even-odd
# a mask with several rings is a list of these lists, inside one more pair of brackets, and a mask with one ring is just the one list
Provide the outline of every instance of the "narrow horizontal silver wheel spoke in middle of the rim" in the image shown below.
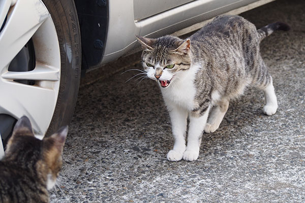
[[44,64],[36,64],[33,71],[28,72],[6,72],[2,74],[2,78],[7,80],[44,80],[58,81],[59,70],[57,67],[51,67]]

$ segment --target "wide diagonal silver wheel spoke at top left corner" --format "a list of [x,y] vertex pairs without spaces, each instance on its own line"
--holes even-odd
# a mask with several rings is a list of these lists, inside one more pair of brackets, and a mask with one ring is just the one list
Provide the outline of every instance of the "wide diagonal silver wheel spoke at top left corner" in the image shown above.
[[0,33],[0,72],[48,17],[47,9],[39,0],[21,0],[11,7]]

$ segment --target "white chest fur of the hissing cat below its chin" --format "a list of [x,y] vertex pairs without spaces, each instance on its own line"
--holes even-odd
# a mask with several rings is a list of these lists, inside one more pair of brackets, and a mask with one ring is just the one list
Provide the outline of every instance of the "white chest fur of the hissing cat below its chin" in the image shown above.
[[161,88],[166,105],[177,105],[191,111],[194,107],[196,88],[194,79],[199,66],[192,65],[187,71],[180,71],[168,88]]

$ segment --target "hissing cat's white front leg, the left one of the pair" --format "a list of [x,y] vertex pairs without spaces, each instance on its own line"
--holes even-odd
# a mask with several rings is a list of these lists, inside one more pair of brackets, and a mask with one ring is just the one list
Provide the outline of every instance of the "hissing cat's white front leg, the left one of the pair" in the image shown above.
[[167,160],[179,161],[186,150],[185,134],[187,131],[188,112],[178,107],[170,107],[168,110],[175,143],[173,149],[167,153]]

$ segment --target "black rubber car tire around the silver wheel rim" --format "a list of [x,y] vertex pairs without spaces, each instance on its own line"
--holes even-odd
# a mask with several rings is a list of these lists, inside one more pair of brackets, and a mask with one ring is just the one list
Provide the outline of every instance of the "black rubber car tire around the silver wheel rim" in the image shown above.
[[[77,12],[72,0],[43,0],[54,22],[60,49],[60,87],[46,136],[69,125],[76,105],[80,72],[81,40]],[[70,49],[69,49],[70,47]]]

